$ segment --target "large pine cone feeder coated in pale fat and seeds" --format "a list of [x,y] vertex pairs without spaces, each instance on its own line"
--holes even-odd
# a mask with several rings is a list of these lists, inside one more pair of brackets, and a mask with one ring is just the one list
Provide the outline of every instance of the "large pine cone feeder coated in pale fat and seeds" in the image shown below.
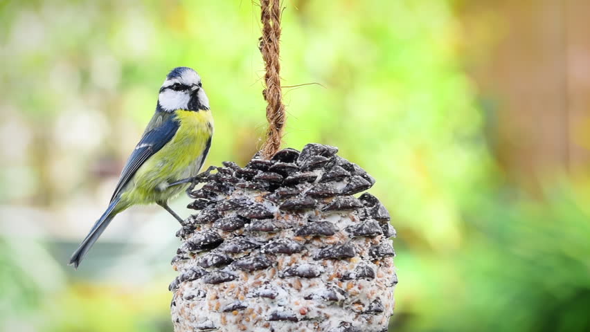
[[395,230],[375,179],[309,144],[225,162],[190,192],[170,284],[176,332],[383,332],[397,284]]

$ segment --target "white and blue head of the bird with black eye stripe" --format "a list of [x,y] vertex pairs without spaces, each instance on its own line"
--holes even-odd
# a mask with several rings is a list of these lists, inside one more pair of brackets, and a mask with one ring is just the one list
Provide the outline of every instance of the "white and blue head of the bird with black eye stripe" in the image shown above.
[[201,77],[193,68],[172,69],[160,88],[158,104],[163,111],[209,109],[209,99],[203,90]]

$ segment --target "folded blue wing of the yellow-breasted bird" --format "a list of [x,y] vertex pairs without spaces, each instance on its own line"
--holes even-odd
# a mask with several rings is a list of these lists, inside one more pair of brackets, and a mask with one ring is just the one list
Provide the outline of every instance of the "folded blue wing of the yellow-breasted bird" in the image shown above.
[[[161,123],[158,123],[160,121]],[[115,192],[111,197],[111,202],[120,194],[120,191],[123,190],[125,185],[129,183],[129,180],[134,176],[139,167],[145,163],[145,160],[153,156],[157,151],[160,151],[166,143],[170,142],[180,127],[179,122],[175,120],[174,116],[170,116],[170,114],[159,115],[156,113],[152,122],[154,122],[155,127],[150,129],[150,125],[148,124],[141,140],[137,143],[129,159],[127,159]]]

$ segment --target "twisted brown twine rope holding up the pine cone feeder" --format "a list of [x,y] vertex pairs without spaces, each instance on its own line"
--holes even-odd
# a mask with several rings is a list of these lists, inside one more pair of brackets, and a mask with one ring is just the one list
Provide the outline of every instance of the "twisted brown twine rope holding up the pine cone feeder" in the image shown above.
[[267,101],[267,140],[262,145],[262,156],[270,159],[280,149],[285,126],[285,105],[280,91],[280,0],[261,0],[262,37],[260,52],[265,61],[265,84],[262,95]]

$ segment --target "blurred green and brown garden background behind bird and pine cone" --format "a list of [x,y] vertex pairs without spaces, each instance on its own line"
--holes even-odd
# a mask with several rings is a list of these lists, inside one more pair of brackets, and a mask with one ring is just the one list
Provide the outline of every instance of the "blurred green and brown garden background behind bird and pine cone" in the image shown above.
[[[391,331],[589,331],[590,3],[283,4],[283,84],[322,85],[285,88],[285,146],[377,178]],[[66,261],[170,68],[203,77],[208,165],[260,147],[258,20],[244,0],[0,1],[0,331],[172,331],[166,212],[133,208]]]

